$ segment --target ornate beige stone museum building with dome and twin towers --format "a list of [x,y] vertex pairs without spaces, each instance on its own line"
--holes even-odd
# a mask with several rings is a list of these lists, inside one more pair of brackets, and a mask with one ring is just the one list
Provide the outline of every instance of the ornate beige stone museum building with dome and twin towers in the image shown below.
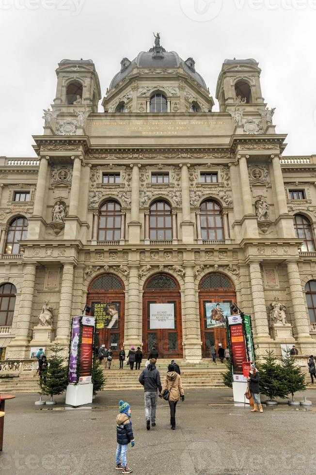
[[259,354],[315,353],[316,156],[283,155],[260,72],[225,60],[212,112],[194,60],[156,38],[123,58],[98,112],[93,61],[59,63],[38,158],[0,157],[2,359],[67,346],[86,303],[114,308],[99,330],[114,355],[155,342],[209,357],[226,346],[216,304],[232,302]]

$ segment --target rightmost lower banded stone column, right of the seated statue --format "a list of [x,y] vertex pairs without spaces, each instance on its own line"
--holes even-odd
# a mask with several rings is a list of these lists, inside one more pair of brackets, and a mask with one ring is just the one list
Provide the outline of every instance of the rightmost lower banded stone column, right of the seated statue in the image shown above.
[[295,261],[289,261],[286,265],[296,336],[299,340],[310,340],[310,319],[306,313],[306,301],[300,281],[299,267]]

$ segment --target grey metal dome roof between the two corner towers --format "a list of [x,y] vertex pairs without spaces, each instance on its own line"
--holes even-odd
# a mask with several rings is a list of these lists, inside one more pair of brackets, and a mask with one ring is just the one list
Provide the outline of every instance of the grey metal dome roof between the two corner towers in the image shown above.
[[139,68],[177,68],[180,64],[193,79],[204,89],[207,89],[204,79],[195,71],[195,61],[193,58],[188,58],[186,61],[183,61],[175,51],[166,51],[160,46],[150,48],[149,51],[141,51],[133,61],[123,58],[121,61],[121,71],[111,80],[109,89],[112,89],[124,79],[132,71],[134,66]]

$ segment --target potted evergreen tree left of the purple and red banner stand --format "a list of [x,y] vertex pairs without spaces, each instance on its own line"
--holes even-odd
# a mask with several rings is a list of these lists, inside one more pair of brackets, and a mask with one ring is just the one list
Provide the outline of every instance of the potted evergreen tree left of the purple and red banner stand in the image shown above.
[[60,355],[63,349],[57,343],[49,348],[52,356],[48,358],[46,379],[40,381],[41,393],[50,396],[50,401],[46,401],[47,405],[56,404],[53,396],[62,394],[67,388],[68,366],[65,366],[65,358]]

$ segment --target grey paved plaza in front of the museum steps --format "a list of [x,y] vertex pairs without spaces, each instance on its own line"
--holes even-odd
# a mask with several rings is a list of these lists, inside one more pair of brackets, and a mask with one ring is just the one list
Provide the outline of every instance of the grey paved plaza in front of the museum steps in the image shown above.
[[[6,403],[1,474],[115,474],[118,401],[131,405],[135,447],[127,462],[138,475],[314,474],[316,391],[309,411],[279,404],[264,414],[235,407],[232,391],[187,390],[170,430],[169,406],[158,399],[157,427],[144,423],[142,391],[103,391],[91,406],[42,410],[35,394]],[[298,399],[302,395],[298,395]],[[117,472],[116,472],[117,473]]]

